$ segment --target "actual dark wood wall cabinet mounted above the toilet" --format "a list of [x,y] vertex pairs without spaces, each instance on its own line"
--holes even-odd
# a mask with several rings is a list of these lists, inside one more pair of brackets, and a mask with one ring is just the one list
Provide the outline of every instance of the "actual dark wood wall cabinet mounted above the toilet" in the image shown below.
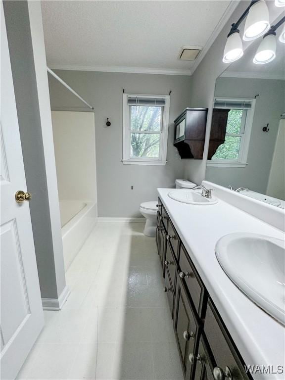
[[208,108],[186,108],[174,120],[174,146],[182,159],[202,159]]

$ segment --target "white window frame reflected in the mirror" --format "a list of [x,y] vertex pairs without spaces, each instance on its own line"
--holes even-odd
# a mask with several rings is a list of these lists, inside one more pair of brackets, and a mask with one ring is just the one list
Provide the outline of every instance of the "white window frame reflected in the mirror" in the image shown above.
[[[249,142],[250,142],[250,136],[251,136],[251,129],[252,129],[252,123],[253,123],[253,116],[254,116],[254,109],[255,109],[255,98],[236,98],[236,97],[215,97],[214,98],[214,104],[215,100],[220,101],[245,101],[245,102],[251,102],[251,108],[247,109],[246,113],[246,120],[244,124],[244,133],[241,135],[240,139],[240,145],[239,145],[239,153],[238,153],[238,160],[226,160],[226,159],[219,159],[219,160],[208,160],[207,166],[215,166],[215,167],[236,167],[236,168],[244,168],[247,163],[247,155],[248,155],[248,149],[249,149]],[[220,107],[219,108],[227,108],[230,107]],[[235,107],[233,109],[242,109],[241,107]],[[239,136],[235,134],[227,134],[227,136]]]

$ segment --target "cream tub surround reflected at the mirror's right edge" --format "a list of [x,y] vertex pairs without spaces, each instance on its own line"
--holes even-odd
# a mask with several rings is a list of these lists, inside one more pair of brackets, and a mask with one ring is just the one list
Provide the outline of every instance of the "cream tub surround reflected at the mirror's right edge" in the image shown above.
[[280,120],[267,194],[285,200],[285,120]]

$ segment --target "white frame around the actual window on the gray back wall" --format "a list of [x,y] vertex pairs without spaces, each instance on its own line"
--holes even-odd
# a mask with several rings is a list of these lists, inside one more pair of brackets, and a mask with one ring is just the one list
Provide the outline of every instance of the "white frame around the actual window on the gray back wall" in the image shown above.
[[[143,98],[159,98],[165,99],[162,116],[162,129],[160,131],[161,139],[159,146],[158,158],[131,158],[131,125],[130,125],[130,106],[128,105],[128,97],[143,97]],[[143,95],[143,94],[123,94],[123,159],[124,165],[165,165],[167,154],[167,139],[169,125],[169,105],[170,95]],[[150,132],[143,132],[150,133]]]

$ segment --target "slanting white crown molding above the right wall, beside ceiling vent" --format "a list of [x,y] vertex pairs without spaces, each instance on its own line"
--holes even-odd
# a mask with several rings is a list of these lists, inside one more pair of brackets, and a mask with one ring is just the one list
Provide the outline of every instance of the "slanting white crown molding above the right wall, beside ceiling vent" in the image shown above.
[[204,47],[202,48],[201,52],[197,56],[197,59],[194,61],[194,64],[191,68],[192,74],[196,70],[196,68],[199,66],[200,62],[202,61],[202,59],[206,55],[209,48],[213,45],[214,41],[216,40],[216,38],[220,34],[221,30],[223,29],[223,27],[228,22],[230,16],[233,14],[234,10],[237,8],[239,2],[240,2],[239,0],[238,1],[232,0],[230,2],[230,4],[228,5],[227,9],[225,10],[225,12],[223,13],[222,17],[220,18],[218,24],[216,25],[213,33],[211,34],[210,38],[207,40],[207,42],[204,45]]

